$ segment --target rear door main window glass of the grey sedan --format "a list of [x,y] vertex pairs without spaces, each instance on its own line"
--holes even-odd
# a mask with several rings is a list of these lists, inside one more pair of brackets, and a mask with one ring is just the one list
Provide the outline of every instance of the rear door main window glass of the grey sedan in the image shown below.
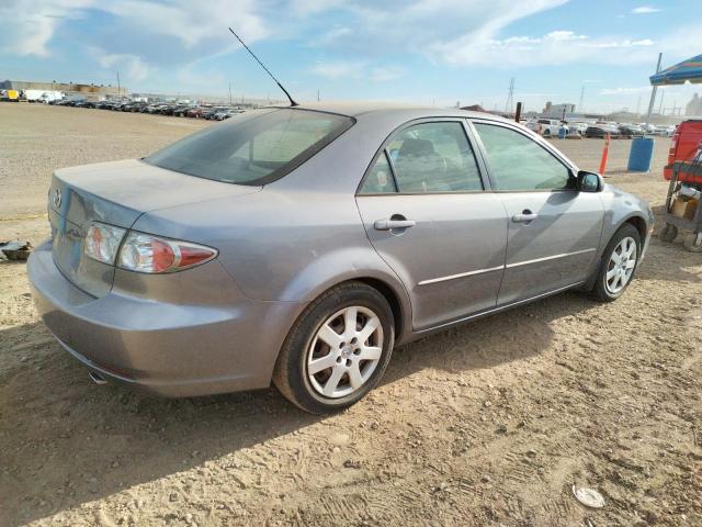
[[483,190],[477,162],[458,122],[403,130],[387,146],[399,192]]

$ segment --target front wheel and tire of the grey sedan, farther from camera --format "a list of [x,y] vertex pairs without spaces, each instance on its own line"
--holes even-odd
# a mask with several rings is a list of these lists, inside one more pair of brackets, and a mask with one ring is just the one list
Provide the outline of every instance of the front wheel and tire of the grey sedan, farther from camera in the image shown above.
[[631,224],[625,224],[612,236],[600,261],[592,294],[602,302],[619,299],[632,282],[638,256],[641,236]]

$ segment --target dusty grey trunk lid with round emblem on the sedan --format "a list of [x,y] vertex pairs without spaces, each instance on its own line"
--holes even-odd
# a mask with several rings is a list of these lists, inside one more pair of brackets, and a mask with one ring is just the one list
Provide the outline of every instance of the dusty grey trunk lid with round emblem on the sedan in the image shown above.
[[79,289],[103,296],[112,289],[114,267],[83,254],[83,239],[93,222],[129,228],[145,212],[259,190],[260,187],[196,178],[136,159],[56,170],[48,194],[54,261]]

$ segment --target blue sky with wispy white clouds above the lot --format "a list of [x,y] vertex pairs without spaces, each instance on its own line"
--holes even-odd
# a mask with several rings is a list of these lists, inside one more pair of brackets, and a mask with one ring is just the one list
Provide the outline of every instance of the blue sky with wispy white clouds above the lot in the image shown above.
[[[279,98],[228,33],[299,100],[546,100],[644,111],[658,52],[702,54],[700,0],[0,0],[0,79]],[[684,104],[694,87],[664,90]],[[702,92],[702,87],[698,90]],[[641,102],[639,102],[641,99]]]

